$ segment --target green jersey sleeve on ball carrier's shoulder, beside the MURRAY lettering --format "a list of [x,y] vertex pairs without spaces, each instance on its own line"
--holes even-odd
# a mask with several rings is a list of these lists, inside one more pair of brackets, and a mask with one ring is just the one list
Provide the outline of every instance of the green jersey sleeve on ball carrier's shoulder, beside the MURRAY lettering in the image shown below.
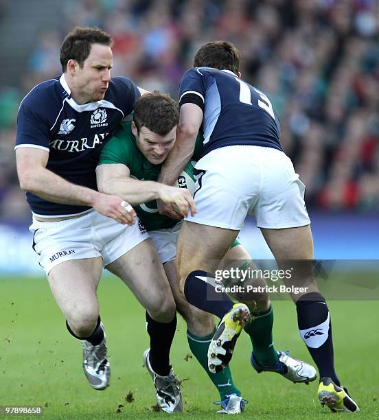
[[113,137],[104,145],[100,154],[99,165],[105,163],[121,163],[127,167],[133,165],[133,145],[128,133],[130,124],[122,123],[115,131]]

